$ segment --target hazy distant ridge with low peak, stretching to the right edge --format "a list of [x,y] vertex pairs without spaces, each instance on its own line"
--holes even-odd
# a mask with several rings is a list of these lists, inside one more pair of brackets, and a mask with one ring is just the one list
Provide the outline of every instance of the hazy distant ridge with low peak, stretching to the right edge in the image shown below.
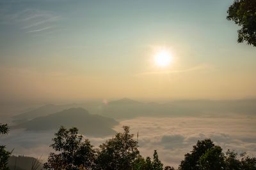
[[100,114],[116,119],[134,117],[223,116],[228,114],[256,115],[256,99],[180,100],[168,103],[140,103],[120,99],[104,104]]

